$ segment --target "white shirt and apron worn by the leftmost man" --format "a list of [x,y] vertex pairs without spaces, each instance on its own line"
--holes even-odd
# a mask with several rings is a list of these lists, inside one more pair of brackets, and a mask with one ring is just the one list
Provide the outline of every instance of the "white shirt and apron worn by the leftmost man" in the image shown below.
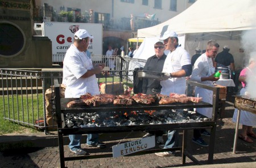
[[92,69],[92,59],[72,44],[63,61],[63,84],[66,85],[65,98],[78,98],[86,93],[100,94],[95,75],[81,78],[87,70]]

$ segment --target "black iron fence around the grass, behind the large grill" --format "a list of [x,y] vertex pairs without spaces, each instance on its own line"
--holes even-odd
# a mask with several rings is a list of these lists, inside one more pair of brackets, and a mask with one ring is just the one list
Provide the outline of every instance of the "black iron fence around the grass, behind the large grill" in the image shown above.
[[[106,57],[93,55],[94,62],[104,62]],[[133,58],[114,57],[116,69],[105,68],[96,75],[100,91],[102,86],[105,93],[123,94],[130,92],[133,87],[134,68],[143,67],[146,61]],[[47,114],[46,91],[53,91],[53,80],[62,83],[62,68],[49,68],[42,70],[19,70],[0,68],[0,97],[2,97],[1,114],[6,120],[23,126],[34,127],[47,131],[55,130],[54,108]],[[117,87],[118,86],[118,87]],[[51,92],[53,100],[54,93]],[[51,104],[51,101],[48,102]],[[52,117],[51,122],[47,122]]]

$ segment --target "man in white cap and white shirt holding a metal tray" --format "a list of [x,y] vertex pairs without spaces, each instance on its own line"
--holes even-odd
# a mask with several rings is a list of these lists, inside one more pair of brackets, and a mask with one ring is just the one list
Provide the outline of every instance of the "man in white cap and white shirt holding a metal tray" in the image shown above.
[[[190,76],[192,72],[191,58],[186,50],[179,45],[179,39],[174,31],[166,31],[160,38],[163,40],[165,50],[170,50],[164,62],[163,72],[168,76],[167,80],[160,81],[162,86],[160,94],[169,96],[170,93],[184,94],[186,89],[185,76]],[[176,113],[183,111],[177,109]],[[170,130],[167,133],[167,141],[164,149],[178,147],[179,132]],[[157,156],[174,156],[175,152],[159,152]]]

